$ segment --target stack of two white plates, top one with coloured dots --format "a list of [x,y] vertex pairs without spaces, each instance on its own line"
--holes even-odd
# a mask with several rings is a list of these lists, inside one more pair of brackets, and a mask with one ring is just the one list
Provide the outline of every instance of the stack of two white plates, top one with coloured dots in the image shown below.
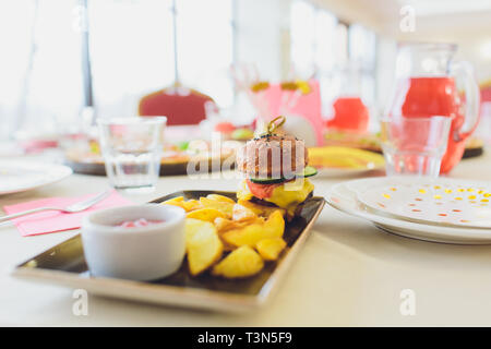
[[399,236],[491,243],[491,182],[379,177],[336,184],[326,200],[342,212]]

